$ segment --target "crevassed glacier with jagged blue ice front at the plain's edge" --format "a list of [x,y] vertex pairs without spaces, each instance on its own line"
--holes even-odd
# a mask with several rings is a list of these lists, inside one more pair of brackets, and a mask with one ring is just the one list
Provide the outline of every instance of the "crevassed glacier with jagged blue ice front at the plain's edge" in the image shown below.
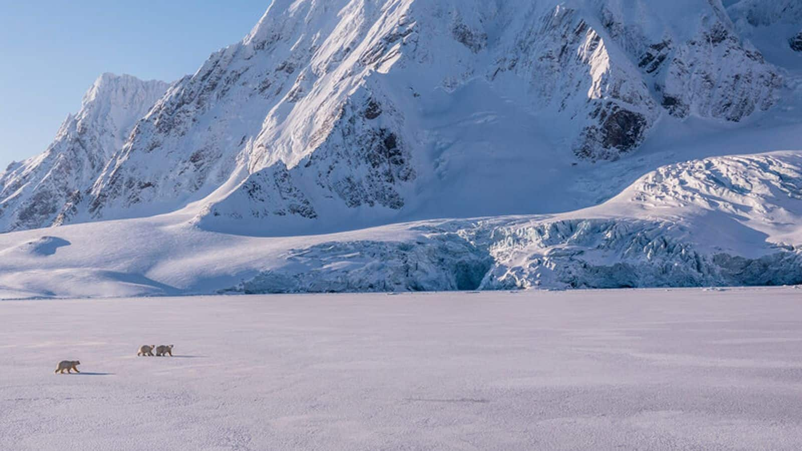
[[326,242],[290,250],[282,266],[237,289],[800,284],[800,171],[796,152],[690,161],[649,173],[618,197],[580,212],[413,225],[423,235],[412,242]]

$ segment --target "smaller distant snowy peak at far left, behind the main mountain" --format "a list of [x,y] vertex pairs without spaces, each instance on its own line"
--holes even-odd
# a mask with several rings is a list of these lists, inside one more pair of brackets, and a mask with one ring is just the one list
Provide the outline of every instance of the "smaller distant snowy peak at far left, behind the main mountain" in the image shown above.
[[166,90],[167,83],[101,75],[47,151],[0,174],[0,231],[59,224]]

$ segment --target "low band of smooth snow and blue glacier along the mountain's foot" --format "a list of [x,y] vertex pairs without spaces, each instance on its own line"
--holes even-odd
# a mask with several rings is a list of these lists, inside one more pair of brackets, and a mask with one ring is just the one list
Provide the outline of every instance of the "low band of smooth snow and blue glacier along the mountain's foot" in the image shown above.
[[[802,154],[647,173],[602,205],[259,238],[192,212],[0,235],[2,297],[802,283]],[[56,232],[56,233],[54,233]]]

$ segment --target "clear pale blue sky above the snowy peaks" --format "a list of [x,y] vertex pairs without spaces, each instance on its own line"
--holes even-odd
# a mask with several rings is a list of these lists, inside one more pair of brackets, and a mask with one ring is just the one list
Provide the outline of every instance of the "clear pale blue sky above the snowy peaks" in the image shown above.
[[42,152],[103,72],[173,81],[271,0],[0,0],[0,172]]

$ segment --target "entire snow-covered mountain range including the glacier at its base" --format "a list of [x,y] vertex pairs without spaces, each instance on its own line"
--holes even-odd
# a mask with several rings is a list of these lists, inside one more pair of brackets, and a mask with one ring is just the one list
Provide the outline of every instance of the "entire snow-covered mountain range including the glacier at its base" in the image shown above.
[[0,297],[800,283],[798,12],[274,0],[2,174]]

